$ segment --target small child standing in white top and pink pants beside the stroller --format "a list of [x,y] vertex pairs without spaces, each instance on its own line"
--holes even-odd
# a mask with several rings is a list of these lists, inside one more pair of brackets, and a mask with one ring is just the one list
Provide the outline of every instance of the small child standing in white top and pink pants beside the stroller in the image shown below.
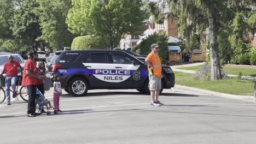
[[59,107],[61,92],[60,76],[54,75],[54,113],[62,112]]

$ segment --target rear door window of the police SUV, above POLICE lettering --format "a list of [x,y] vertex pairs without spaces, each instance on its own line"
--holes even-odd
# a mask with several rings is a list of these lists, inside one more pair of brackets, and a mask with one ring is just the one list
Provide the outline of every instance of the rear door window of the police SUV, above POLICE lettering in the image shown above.
[[86,58],[86,63],[108,63],[107,53],[90,54]]

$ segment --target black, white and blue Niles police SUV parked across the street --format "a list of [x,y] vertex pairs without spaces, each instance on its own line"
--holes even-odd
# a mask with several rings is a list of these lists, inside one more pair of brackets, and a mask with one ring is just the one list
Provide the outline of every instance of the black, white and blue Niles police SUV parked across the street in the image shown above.
[[[144,58],[143,58],[144,59]],[[147,64],[117,50],[57,51],[47,66],[60,75],[61,87],[79,97],[88,89],[137,89],[150,93]],[[162,89],[174,87],[174,73],[162,65]]]

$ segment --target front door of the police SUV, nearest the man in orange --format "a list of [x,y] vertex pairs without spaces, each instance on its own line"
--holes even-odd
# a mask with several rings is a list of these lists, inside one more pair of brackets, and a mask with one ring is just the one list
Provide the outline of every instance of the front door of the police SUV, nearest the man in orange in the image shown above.
[[140,86],[140,65],[137,61],[124,52],[111,52],[110,58],[113,62],[113,75],[110,75],[115,88],[138,88]]

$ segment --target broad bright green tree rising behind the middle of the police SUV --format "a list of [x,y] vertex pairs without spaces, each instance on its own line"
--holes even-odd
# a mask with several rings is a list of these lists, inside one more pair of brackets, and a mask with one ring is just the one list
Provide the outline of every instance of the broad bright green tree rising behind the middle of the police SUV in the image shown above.
[[69,31],[79,35],[99,35],[108,49],[116,47],[121,35],[136,34],[146,11],[142,0],[73,0],[68,11]]

